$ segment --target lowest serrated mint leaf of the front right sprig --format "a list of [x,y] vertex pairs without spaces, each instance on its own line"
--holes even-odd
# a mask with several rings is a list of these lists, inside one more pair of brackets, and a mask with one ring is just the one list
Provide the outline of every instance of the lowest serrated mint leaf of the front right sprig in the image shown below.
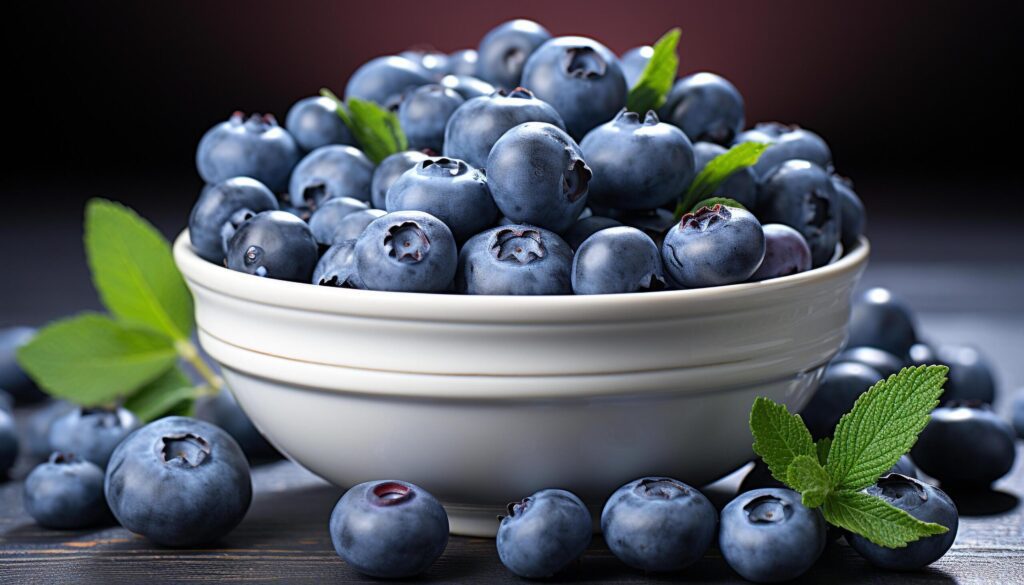
[[862,492],[829,494],[821,511],[828,524],[889,548],[900,548],[918,539],[949,530],[941,525],[921,521],[885,500]]

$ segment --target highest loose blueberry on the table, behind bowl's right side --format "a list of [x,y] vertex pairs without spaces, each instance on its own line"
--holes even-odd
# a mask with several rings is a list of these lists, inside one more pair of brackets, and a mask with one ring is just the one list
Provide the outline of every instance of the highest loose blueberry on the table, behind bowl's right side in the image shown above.
[[906,356],[918,341],[910,309],[883,288],[864,291],[850,315],[850,346],[866,345]]

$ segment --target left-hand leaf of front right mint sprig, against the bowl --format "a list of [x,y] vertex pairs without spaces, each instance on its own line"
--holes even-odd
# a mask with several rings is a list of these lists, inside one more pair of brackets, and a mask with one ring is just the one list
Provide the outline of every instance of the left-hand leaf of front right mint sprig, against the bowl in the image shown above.
[[751,409],[751,432],[754,452],[768,465],[772,476],[783,484],[788,484],[794,459],[815,456],[814,442],[803,419],[764,396],[758,396]]

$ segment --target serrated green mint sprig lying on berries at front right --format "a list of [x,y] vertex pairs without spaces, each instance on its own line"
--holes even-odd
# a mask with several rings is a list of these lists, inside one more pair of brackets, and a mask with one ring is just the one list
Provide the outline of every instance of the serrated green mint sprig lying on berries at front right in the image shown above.
[[800,415],[765,398],[754,401],[754,451],[779,482],[800,492],[805,506],[821,508],[829,524],[880,546],[899,548],[942,534],[862,490],[910,450],[938,406],[948,368],[918,366],[880,380],[840,419],[833,438],[814,443]]

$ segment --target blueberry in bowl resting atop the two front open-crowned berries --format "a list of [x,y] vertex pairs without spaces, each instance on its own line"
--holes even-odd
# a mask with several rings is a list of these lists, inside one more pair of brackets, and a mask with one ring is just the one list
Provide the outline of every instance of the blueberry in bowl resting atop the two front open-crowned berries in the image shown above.
[[406,171],[387,193],[388,211],[424,211],[452,229],[457,242],[494,225],[498,207],[483,172],[464,161],[428,158]]

